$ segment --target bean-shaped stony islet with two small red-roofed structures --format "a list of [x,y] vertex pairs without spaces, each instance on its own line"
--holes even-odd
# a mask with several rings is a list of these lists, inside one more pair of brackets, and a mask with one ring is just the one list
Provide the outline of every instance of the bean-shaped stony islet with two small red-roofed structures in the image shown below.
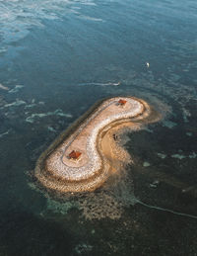
[[[148,104],[135,98],[102,101],[74,130],[71,128],[39,157],[35,177],[47,189],[60,193],[95,190],[110,173],[110,164],[101,148],[103,133],[120,123],[143,120],[149,114]],[[115,140],[115,134],[112,135]],[[105,147],[106,151],[109,144]]]

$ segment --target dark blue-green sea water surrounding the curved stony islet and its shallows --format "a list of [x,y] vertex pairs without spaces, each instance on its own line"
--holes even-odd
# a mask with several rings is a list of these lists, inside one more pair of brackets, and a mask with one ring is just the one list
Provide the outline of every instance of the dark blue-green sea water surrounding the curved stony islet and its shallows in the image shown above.
[[[0,255],[197,255],[196,24],[195,0],[0,0]],[[122,94],[164,118],[125,139],[120,194],[139,204],[86,219],[29,173],[96,101]]]

